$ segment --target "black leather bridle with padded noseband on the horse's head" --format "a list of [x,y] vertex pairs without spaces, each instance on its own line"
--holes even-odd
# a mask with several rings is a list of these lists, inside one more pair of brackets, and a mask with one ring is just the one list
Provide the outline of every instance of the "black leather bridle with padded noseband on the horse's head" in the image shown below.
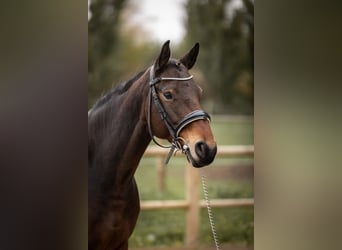
[[[181,150],[184,154],[187,155],[188,159],[191,157],[189,156],[189,147],[188,145],[185,144],[185,140],[179,136],[180,132],[182,129],[189,125],[190,123],[197,121],[197,120],[208,120],[210,121],[210,116],[207,112],[203,110],[195,110],[187,114],[176,126],[173,125],[173,122],[170,121],[167,112],[164,109],[163,104],[161,103],[157,90],[156,90],[156,84],[161,82],[161,81],[188,81],[192,79],[193,76],[190,75],[188,77],[183,77],[183,78],[178,78],[178,77],[155,77],[154,75],[154,65],[150,68],[150,91],[149,91],[149,102],[148,102],[148,118],[147,118],[147,123],[148,123],[148,131],[150,133],[150,136],[155,144],[162,148],[170,148],[170,152],[166,158],[165,163],[168,164],[173,152],[175,150]],[[152,99],[153,102],[156,106],[156,109],[158,113],[160,114],[161,119],[164,121],[167,129],[169,130],[169,133],[172,137],[171,145],[170,146],[165,146],[160,144],[154,137],[153,132],[152,132],[152,126],[151,126],[151,108],[152,108]],[[181,142],[184,143],[184,145],[181,145]]]

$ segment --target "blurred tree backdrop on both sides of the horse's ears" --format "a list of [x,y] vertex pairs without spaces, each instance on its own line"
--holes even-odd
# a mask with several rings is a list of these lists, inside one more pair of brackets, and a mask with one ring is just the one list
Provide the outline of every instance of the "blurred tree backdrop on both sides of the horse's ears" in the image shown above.
[[[89,0],[89,107],[110,88],[150,66],[167,40],[155,39],[144,29],[144,20],[132,24],[142,10],[141,5],[147,2],[160,3]],[[178,21],[183,24],[185,34],[180,41],[171,41],[172,56],[183,56],[195,42],[200,43],[200,54],[192,74],[204,89],[204,108],[212,114],[253,114],[254,2],[177,2],[178,5],[182,3],[179,8],[185,17]],[[161,10],[155,10],[158,11]],[[169,10],[162,11],[167,13]],[[170,36],[176,32],[173,28],[164,27]]]

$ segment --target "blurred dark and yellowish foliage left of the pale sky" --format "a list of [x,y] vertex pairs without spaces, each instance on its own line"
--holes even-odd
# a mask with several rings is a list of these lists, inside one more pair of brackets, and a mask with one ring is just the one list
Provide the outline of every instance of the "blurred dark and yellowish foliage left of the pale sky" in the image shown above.
[[153,63],[160,43],[151,42],[129,20],[137,11],[130,0],[90,0],[88,22],[88,107],[114,85]]

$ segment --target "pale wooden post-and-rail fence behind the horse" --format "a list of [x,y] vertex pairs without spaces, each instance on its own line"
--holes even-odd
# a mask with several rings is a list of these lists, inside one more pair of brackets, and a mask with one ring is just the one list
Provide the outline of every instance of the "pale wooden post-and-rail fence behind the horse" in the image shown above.
[[[159,176],[159,188],[165,188],[165,166],[164,159],[168,154],[167,149],[150,146],[145,152],[145,157],[156,157],[156,167]],[[181,154],[177,154],[179,156]],[[254,156],[254,146],[218,146],[216,158]],[[199,242],[199,219],[200,209],[206,207],[206,202],[200,200],[199,196],[200,174],[198,169],[187,167],[185,172],[185,200],[168,201],[142,201],[142,210],[151,209],[186,209],[186,232],[185,244],[187,247],[195,247]],[[254,206],[254,199],[211,199],[211,207],[243,207]]]

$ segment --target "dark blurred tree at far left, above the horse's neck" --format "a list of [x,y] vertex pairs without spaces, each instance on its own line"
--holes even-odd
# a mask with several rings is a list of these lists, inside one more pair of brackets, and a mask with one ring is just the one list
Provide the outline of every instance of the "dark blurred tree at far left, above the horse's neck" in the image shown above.
[[88,21],[88,105],[111,84],[115,71],[109,63],[115,54],[119,17],[126,0],[89,0]]

